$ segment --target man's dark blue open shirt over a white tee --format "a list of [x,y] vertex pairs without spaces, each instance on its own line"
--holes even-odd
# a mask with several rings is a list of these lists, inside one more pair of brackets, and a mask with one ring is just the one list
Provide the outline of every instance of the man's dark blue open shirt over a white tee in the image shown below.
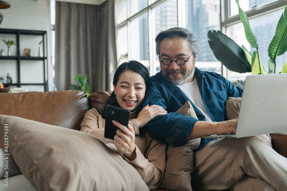
[[[215,72],[204,72],[195,68],[195,76],[204,107],[211,120],[215,122],[226,120],[225,102],[227,98],[242,97],[243,90]],[[142,106],[159,105],[168,114],[158,115],[149,121],[146,124],[148,133],[152,138],[165,141],[168,144],[183,145],[194,124],[197,121],[206,121],[204,115],[179,87],[164,79],[160,72],[150,77],[150,80],[150,86]],[[187,100],[193,106],[198,119],[176,112]],[[197,150],[212,140],[201,139]]]

